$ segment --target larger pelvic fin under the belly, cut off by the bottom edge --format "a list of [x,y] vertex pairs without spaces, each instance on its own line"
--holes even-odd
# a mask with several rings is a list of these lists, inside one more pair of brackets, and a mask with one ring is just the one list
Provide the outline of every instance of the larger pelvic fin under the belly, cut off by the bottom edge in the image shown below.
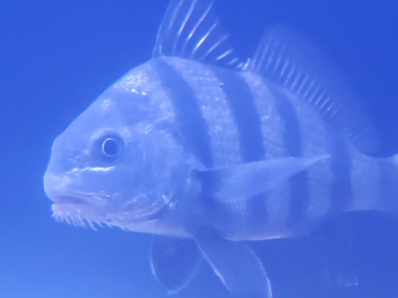
[[258,257],[243,242],[199,231],[194,235],[203,255],[228,291],[239,298],[272,298],[270,281]]

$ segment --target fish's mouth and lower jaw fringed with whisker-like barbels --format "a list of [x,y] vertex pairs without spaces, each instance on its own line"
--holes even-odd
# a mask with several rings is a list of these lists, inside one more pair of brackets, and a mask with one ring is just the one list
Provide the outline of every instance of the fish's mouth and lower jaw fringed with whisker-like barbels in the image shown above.
[[[65,220],[68,224],[79,226],[86,226],[85,222],[92,226],[92,222],[95,222],[135,231],[156,231],[145,222],[153,221],[160,207],[159,204],[150,204],[153,198],[143,192],[138,192],[128,200],[120,193],[85,192],[74,183],[70,171],[62,174],[47,171],[44,174],[44,190],[53,201],[51,208],[57,221]],[[162,196],[159,200],[164,206],[170,198]]]

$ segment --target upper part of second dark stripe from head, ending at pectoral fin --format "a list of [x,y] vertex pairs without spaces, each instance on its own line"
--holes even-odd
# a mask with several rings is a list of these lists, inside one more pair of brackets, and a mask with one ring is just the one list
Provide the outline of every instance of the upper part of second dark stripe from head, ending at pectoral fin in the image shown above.
[[261,120],[247,82],[236,72],[211,67],[226,95],[239,132],[242,161],[262,160],[265,156]]

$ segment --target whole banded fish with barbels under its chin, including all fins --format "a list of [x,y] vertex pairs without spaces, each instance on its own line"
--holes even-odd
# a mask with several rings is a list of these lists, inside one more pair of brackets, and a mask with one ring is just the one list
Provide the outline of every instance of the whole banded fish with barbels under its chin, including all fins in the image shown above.
[[311,43],[266,30],[240,59],[210,0],[171,0],[152,58],[53,142],[58,221],[153,234],[152,273],[183,291],[206,261],[234,297],[272,298],[246,240],[298,237],[348,211],[398,213],[398,154]]

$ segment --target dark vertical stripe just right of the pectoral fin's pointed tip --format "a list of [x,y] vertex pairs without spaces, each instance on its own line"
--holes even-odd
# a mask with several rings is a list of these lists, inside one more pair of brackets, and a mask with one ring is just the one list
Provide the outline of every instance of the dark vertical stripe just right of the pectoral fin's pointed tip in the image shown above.
[[351,156],[343,138],[333,138],[331,170],[333,181],[330,190],[330,212],[345,211],[354,199],[351,181]]

